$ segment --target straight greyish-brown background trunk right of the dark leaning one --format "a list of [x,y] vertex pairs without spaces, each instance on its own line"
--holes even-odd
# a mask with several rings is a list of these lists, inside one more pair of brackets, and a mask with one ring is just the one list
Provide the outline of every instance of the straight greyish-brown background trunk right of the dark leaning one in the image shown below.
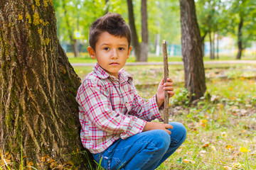
[[146,0],[142,0],[142,44],[140,62],[147,61],[148,53],[148,28],[147,28],[147,12],[146,12]]

